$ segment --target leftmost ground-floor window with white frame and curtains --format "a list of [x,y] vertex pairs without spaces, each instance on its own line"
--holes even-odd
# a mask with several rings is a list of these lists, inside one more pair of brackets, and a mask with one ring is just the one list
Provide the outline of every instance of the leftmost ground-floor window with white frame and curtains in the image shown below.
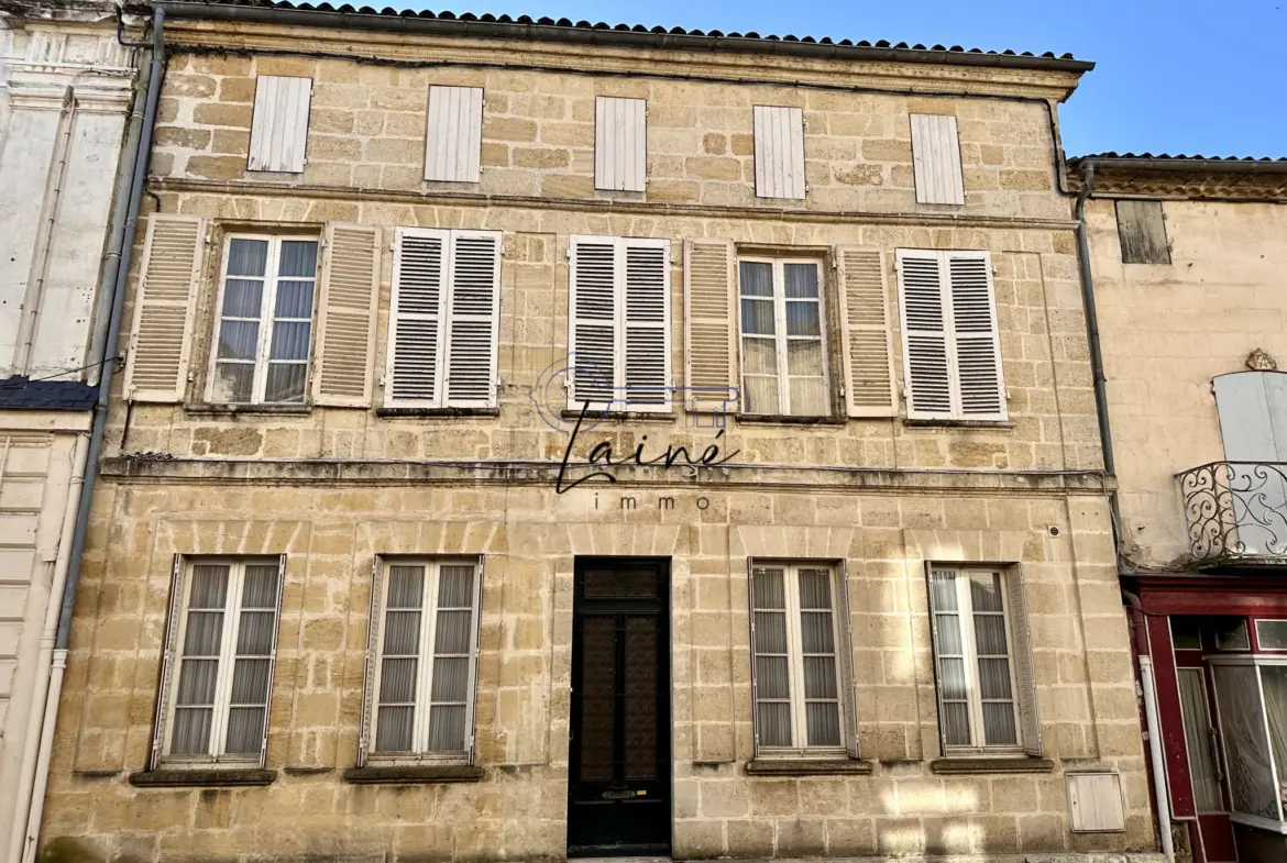
[[176,565],[157,734],[166,763],[263,763],[282,570],[281,558]]

